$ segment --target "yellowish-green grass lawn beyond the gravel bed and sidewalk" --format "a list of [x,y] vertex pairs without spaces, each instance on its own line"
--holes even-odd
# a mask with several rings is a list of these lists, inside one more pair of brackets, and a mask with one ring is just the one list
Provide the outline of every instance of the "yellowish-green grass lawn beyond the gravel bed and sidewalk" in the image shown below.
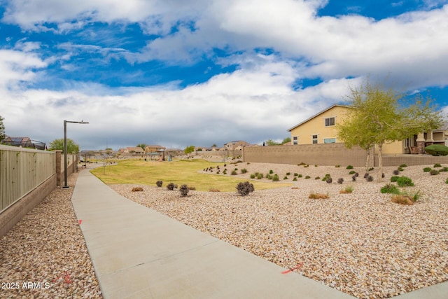
[[[238,178],[237,176],[225,176],[222,174],[203,174],[198,173],[207,167],[216,167],[221,169],[225,163],[214,163],[206,160],[180,160],[172,162],[151,162],[144,160],[120,160],[118,165],[106,166],[106,174],[103,174],[103,167],[92,169],[92,174],[97,176],[106,184],[114,183],[137,183],[155,186],[156,181],[163,181],[163,186],[168,183],[176,183],[179,186],[186,183],[189,187],[195,187],[196,190],[209,191],[211,188],[218,189],[221,192],[235,191],[235,186],[240,181],[248,179]],[[228,173],[235,165],[227,165]],[[216,169],[215,169],[216,172]],[[223,170],[221,170],[221,173]],[[291,183],[273,183],[269,181],[250,180],[255,190],[280,188],[292,186]]]

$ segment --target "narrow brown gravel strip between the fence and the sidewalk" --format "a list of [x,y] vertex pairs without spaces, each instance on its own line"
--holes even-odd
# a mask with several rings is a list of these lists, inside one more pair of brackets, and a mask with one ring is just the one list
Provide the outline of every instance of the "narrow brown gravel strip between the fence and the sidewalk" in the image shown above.
[[102,298],[71,188],[56,188],[0,238],[0,298]]

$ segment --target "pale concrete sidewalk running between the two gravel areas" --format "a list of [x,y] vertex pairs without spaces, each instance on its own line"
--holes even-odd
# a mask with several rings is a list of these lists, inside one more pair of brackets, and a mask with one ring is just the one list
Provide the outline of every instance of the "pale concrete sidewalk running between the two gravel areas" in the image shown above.
[[353,298],[127,200],[88,170],[72,202],[106,299]]

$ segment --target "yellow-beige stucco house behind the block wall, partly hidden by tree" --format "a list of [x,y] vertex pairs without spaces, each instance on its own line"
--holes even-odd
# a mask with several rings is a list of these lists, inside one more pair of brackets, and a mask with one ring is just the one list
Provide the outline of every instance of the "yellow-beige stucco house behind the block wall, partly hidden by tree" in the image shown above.
[[[288,129],[291,144],[328,144],[342,142],[337,139],[337,123],[344,122],[350,106],[334,104]],[[423,148],[430,144],[447,144],[448,123],[440,129],[414,135],[402,141],[384,144],[384,154],[423,153]]]

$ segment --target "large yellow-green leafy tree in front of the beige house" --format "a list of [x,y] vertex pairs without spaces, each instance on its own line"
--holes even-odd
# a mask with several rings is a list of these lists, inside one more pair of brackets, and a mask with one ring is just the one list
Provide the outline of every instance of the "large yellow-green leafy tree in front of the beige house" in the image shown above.
[[349,115],[337,125],[338,137],[348,148],[378,148],[378,181],[383,168],[383,146],[400,141],[442,125],[442,113],[435,111],[428,97],[423,103],[417,95],[414,103],[405,102],[405,95],[367,81],[359,88],[351,88],[347,96],[351,102]]

